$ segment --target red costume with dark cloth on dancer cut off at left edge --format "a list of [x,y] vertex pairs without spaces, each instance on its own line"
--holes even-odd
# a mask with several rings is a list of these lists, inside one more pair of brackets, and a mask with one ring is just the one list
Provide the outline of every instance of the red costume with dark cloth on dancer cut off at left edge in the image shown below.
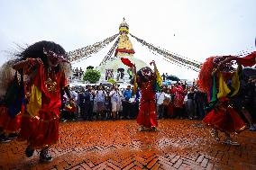
[[[21,128],[22,114],[24,111],[24,86],[23,81],[19,81],[17,73],[13,77],[13,74],[8,74],[6,67],[10,67],[5,63],[0,68],[1,84],[2,84],[2,100],[0,101],[0,132],[5,134],[7,137],[10,133],[17,134]],[[9,68],[10,69],[10,68]],[[20,79],[23,79],[21,76]],[[4,85],[3,85],[4,84]],[[3,86],[5,88],[3,89]],[[4,140],[1,140],[2,142]]]

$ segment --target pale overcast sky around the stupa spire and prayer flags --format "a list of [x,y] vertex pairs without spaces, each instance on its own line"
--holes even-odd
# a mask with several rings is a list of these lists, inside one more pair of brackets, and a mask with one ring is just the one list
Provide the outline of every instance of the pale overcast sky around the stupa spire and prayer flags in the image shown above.
[[[255,0],[0,0],[0,65],[5,50],[53,40],[66,51],[118,32],[123,17],[130,32],[163,49],[203,62],[215,55],[255,50]],[[197,73],[153,56],[134,39],[135,58],[155,59],[160,72],[192,79]],[[76,67],[96,66],[103,49]]]

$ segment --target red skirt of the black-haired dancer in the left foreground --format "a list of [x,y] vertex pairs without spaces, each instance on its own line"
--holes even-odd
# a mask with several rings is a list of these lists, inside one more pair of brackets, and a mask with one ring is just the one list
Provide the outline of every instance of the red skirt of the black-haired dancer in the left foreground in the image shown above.
[[32,148],[44,148],[59,140],[59,109],[52,112],[39,112],[32,118],[24,113],[20,140],[27,140]]

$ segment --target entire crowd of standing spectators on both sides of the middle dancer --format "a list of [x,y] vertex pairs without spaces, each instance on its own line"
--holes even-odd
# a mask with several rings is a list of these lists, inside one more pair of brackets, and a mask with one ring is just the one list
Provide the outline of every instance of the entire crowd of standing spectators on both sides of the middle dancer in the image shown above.
[[[253,84],[246,85],[245,88],[252,89],[251,85]],[[113,93],[115,95],[112,95]],[[71,94],[76,99],[76,110],[73,112],[66,111],[69,101],[64,96],[62,121],[135,119],[139,112],[141,93],[133,96],[131,85],[128,85],[126,89],[120,89],[118,85],[113,87],[87,85],[80,89],[71,87]],[[116,101],[116,109],[114,103],[113,114],[112,103],[114,101]],[[207,113],[204,110],[207,104],[207,94],[201,92],[195,83],[192,86],[179,82],[174,85],[165,85],[161,91],[156,93],[158,119],[202,121]],[[250,110],[252,111],[252,108]],[[254,130],[252,124],[253,122],[251,122],[251,130]]]

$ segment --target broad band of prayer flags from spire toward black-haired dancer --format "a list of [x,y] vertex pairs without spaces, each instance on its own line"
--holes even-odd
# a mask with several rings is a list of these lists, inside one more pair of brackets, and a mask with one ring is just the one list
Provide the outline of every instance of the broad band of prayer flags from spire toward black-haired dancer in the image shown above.
[[114,34],[113,36],[106,38],[105,40],[96,42],[93,45],[89,45],[87,47],[81,49],[75,49],[67,52],[67,56],[69,58],[69,62],[77,61],[79,62],[81,58],[89,58],[91,54],[97,53],[100,49],[105,48],[110,42],[112,42],[119,33]]

